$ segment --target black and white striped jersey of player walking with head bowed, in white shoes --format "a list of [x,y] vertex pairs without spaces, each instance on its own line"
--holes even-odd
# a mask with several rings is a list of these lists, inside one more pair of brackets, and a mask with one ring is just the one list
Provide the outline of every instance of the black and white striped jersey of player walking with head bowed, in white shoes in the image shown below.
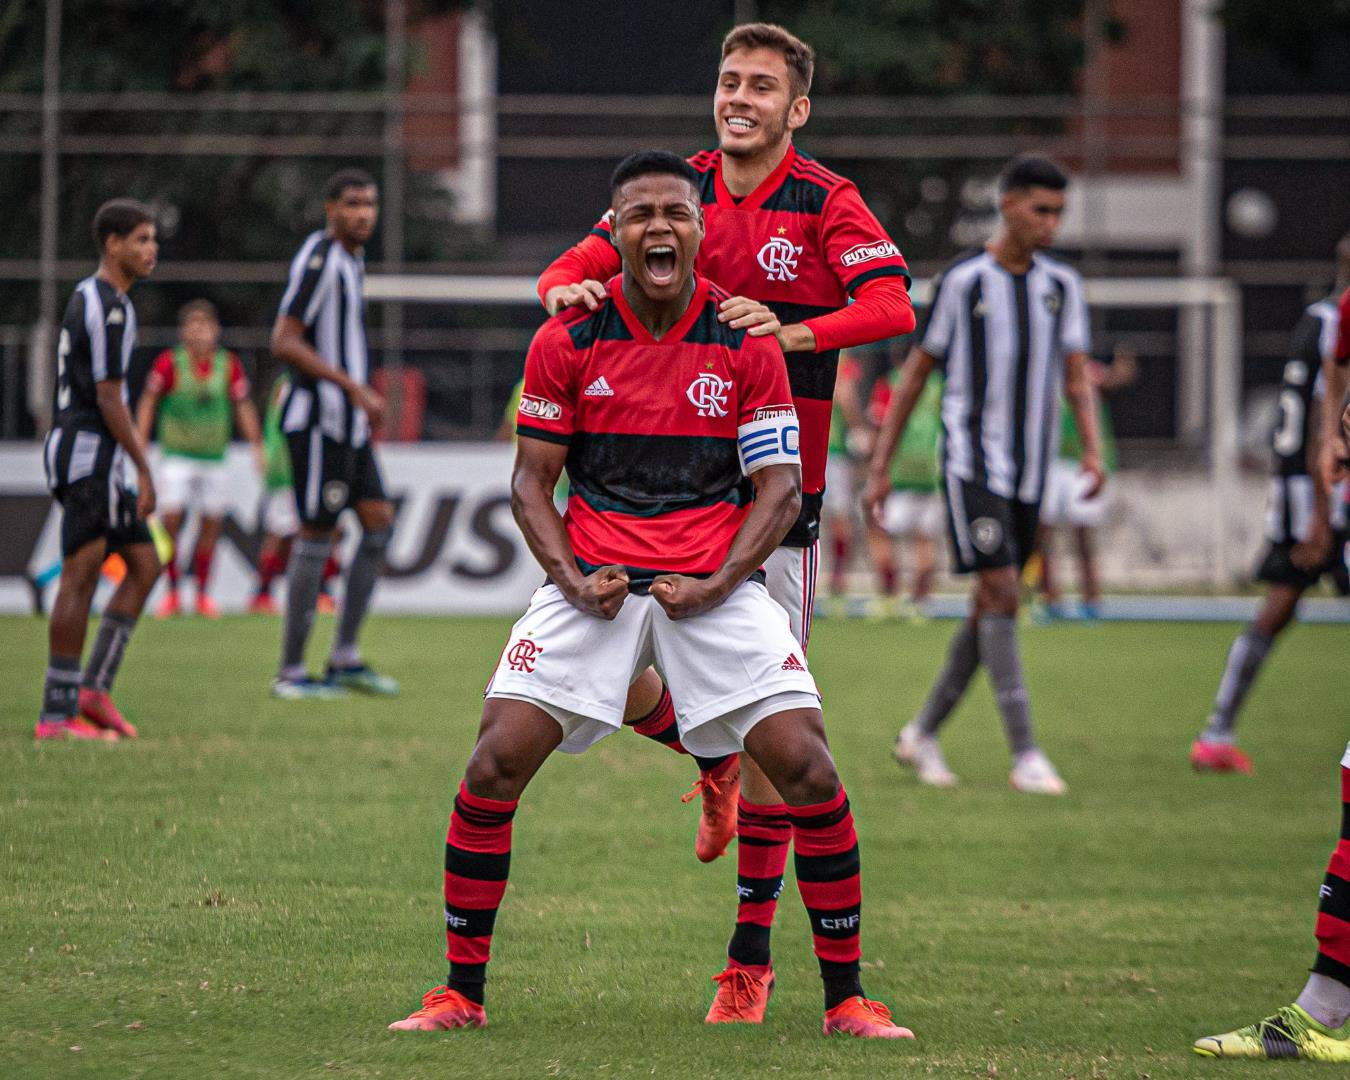
[[988,251],[934,284],[922,348],[946,371],[944,468],[1003,498],[1040,502],[1060,437],[1064,358],[1091,347],[1083,279],[1038,254],[1025,274]]

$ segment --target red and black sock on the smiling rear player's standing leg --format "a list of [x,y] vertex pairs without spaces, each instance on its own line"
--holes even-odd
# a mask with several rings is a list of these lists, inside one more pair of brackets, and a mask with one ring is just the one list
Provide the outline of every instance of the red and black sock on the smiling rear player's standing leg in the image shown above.
[[740,967],[767,968],[792,840],[787,803],[752,803],[742,795],[736,803],[736,930],[726,954]]

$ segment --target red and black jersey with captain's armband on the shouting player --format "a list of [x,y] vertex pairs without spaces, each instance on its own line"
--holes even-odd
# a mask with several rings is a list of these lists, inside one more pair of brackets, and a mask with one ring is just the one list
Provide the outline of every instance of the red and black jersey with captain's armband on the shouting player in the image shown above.
[[622,564],[639,590],[716,572],[749,512],[748,475],[798,462],[783,354],[718,323],[726,297],[698,275],[657,340],[614,278],[597,310],[568,308],[535,335],[516,431],[567,447],[563,521],[583,570]]

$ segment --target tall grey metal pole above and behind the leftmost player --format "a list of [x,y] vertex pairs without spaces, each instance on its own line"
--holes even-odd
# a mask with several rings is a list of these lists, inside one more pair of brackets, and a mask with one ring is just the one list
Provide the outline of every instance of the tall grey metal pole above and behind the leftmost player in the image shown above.
[[61,0],[47,0],[42,42],[42,192],[39,202],[38,321],[28,355],[28,410],[43,431],[51,423],[53,332],[57,324],[57,212],[61,138]]

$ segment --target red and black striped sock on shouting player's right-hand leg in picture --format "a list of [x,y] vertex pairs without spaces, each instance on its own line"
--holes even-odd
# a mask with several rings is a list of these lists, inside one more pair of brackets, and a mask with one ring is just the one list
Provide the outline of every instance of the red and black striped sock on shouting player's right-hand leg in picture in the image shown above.
[[857,832],[841,787],[833,799],[790,806],[796,887],[811,921],[811,945],[825,981],[825,1007],[863,992],[859,977],[863,880]]

